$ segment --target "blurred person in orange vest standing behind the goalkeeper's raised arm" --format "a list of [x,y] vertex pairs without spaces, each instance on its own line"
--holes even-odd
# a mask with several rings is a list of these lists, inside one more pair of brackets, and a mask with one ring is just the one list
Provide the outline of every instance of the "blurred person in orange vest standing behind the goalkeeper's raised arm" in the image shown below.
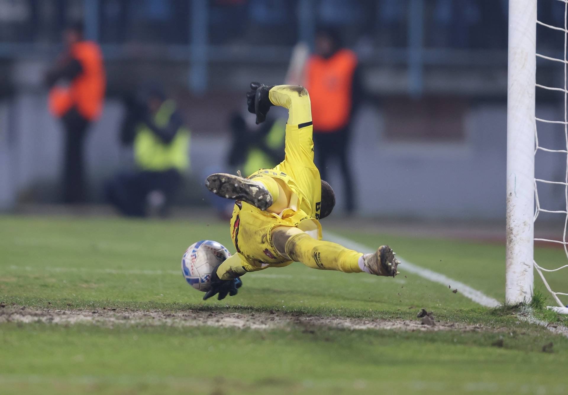
[[316,163],[321,179],[329,179],[328,165],[331,159],[337,159],[348,213],[355,209],[348,150],[351,121],[361,99],[360,79],[356,54],[341,47],[337,32],[320,30],[316,34],[315,53],[306,64],[304,81],[312,102]]

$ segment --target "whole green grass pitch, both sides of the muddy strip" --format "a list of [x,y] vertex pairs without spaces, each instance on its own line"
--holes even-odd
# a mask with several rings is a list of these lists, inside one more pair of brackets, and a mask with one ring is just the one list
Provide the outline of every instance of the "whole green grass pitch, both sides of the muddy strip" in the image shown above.
[[[325,227],[325,224],[324,224]],[[327,230],[324,228],[324,231]],[[331,229],[342,233],[341,229]],[[545,393],[568,392],[568,339],[406,274],[395,279],[296,263],[243,277],[239,295],[202,301],[179,260],[199,239],[232,250],[219,222],[0,217],[2,309],[194,310],[436,320],[481,330],[346,330],[291,325],[212,326],[0,323],[2,393]],[[410,262],[503,299],[504,247],[349,232],[389,243]],[[562,250],[537,250],[564,262]],[[561,273],[561,272],[559,272]],[[406,276],[405,276],[406,275]],[[566,275],[552,279],[561,288]],[[450,287],[452,284],[448,284]],[[557,320],[557,317],[547,317]],[[562,325],[562,322],[555,324]],[[552,347],[545,344],[553,343]]]

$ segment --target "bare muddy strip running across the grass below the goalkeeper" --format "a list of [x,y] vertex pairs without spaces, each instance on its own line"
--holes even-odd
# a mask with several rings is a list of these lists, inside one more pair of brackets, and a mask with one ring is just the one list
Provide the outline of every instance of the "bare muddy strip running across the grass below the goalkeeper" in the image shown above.
[[0,323],[44,322],[59,325],[87,324],[104,327],[124,326],[215,326],[240,329],[310,329],[314,327],[348,330],[391,329],[405,331],[485,331],[494,330],[482,325],[464,325],[455,322],[439,322],[436,325],[424,325],[413,320],[365,320],[364,318],[336,318],[294,315],[283,313],[235,313],[203,312],[164,312],[161,310],[59,310],[28,309],[19,306],[6,306],[0,309]]

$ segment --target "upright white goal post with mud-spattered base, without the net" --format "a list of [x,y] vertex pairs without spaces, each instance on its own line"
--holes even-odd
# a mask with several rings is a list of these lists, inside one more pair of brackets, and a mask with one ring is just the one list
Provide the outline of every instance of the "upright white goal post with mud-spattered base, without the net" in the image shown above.
[[509,0],[505,302],[533,295],[537,0]]

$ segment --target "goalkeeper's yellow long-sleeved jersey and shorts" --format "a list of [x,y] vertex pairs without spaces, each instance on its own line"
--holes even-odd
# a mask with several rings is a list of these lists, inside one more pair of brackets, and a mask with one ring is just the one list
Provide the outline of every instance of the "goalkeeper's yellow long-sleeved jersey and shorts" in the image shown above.
[[281,85],[270,90],[269,98],[289,109],[285,158],[274,169],[258,170],[249,178],[268,175],[281,179],[293,194],[289,208],[279,215],[245,202],[235,204],[231,238],[237,252],[253,266],[287,262],[274,250],[271,231],[275,226],[296,226],[321,239],[321,178],[314,163],[310,96],[303,87]]

